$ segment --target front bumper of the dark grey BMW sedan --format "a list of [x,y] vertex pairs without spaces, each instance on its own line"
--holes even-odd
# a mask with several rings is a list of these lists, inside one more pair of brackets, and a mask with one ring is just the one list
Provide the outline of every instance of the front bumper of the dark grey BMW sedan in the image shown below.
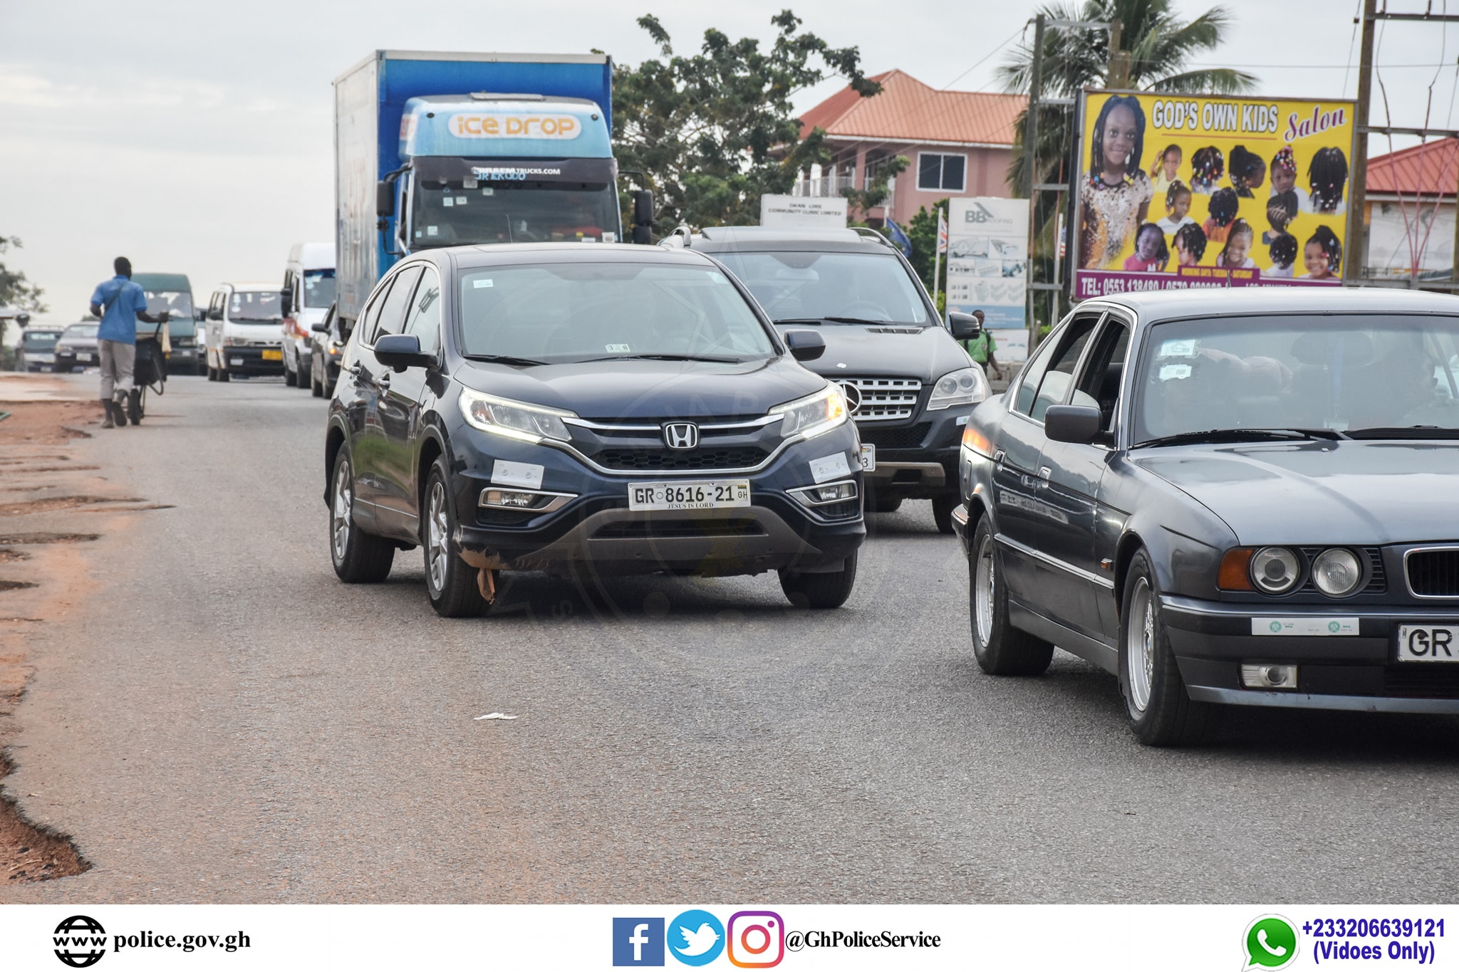
[[[1227,705],[1459,714],[1459,662],[1398,662],[1404,624],[1459,625],[1459,603],[1428,606],[1218,603],[1161,597],[1191,698]],[[1277,619],[1357,621],[1357,634],[1256,635]],[[1347,630],[1347,625],[1342,625]],[[1294,689],[1242,685],[1242,663],[1296,665]]]

